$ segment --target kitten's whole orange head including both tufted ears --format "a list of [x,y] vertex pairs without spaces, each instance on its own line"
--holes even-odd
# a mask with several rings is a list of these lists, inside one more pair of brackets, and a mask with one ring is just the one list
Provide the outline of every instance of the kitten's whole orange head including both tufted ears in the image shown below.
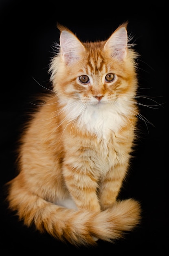
[[59,25],[59,53],[50,65],[53,90],[62,99],[97,105],[134,96],[137,88],[136,53],[128,44],[127,22],[105,41],[82,43]]

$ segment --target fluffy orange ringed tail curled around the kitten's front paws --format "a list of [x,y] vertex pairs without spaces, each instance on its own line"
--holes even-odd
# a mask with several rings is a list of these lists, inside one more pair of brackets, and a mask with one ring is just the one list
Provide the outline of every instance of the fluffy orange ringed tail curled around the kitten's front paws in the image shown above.
[[39,231],[76,246],[94,245],[95,238],[110,242],[122,238],[124,231],[131,231],[140,220],[140,204],[133,199],[115,202],[100,213],[66,209],[22,188],[12,189],[8,201],[25,225],[34,222]]

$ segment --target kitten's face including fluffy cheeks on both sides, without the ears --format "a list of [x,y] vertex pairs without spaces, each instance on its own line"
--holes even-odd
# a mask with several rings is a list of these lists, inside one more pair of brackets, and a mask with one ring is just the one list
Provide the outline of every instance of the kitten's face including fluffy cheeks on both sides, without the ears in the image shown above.
[[65,66],[64,70],[59,68],[58,73],[57,79],[61,81],[57,83],[57,91],[64,97],[74,97],[93,106],[112,103],[123,94],[131,93],[129,80],[134,77],[132,69],[129,73],[125,61],[112,59],[97,43],[90,43],[84,56]]

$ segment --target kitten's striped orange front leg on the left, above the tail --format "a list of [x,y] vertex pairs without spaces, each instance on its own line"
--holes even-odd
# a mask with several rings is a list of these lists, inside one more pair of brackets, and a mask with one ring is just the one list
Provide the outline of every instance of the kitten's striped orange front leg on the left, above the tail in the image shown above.
[[101,211],[97,197],[97,178],[88,168],[65,163],[63,174],[66,186],[78,209]]

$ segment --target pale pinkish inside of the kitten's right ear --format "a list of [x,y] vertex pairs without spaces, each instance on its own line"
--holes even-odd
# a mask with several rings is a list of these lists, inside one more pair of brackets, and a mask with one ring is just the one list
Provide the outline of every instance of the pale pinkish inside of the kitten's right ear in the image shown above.
[[114,31],[105,43],[104,49],[109,51],[112,57],[124,60],[127,55],[127,30],[126,25],[120,26]]

